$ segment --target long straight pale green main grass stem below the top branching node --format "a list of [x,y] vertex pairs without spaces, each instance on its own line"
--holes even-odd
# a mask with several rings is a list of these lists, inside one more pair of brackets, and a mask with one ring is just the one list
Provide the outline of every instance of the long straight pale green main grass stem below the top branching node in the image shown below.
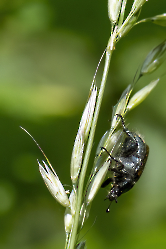
[[88,144],[87,144],[87,149],[86,149],[86,153],[85,153],[85,157],[84,157],[84,162],[82,165],[82,170],[81,170],[81,174],[80,174],[80,178],[79,178],[77,207],[76,207],[76,213],[75,213],[74,226],[73,226],[73,229],[71,231],[71,236],[69,239],[69,244],[68,244],[67,249],[74,249],[75,244],[76,244],[79,213],[80,213],[80,207],[81,207],[82,196],[83,196],[83,191],[84,191],[84,179],[85,179],[86,170],[88,167],[90,153],[91,153],[92,146],[93,146],[96,124],[97,124],[97,120],[98,120],[98,116],[99,116],[99,111],[100,111],[100,107],[101,107],[101,102],[102,102],[102,98],[103,98],[103,94],[104,94],[106,81],[107,81],[112,52],[113,52],[113,50],[108,50],[106,52],[105,65],[104,65],[104,71],[103,71],[103,76],[102,76],[102,80],[101,80],[101,86],[100,86],[100,90],[99,90],[99,94],[98,94],[98,98],[97,98],[94,118],[92,121],[91,132],[90,132],[89,139],[88,139]]

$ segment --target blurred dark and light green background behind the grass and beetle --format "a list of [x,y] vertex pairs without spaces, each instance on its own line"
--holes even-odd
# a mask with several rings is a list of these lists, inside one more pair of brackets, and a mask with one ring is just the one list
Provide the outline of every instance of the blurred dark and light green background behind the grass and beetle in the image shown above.
[[[128,2],[128,10],[132,1]],[[148,1],[141,18],[166,12]],[[0,248],[64,248],[65,209],[48,192],[36,159],[43,156],[71,190],[70,157],[99,58],[110,33],[107,1],[0,1]],[[107,129],[112,106],[147,53],[166,38],[166,28],[140,24],[116,46],[90,166]],[[103,62],[97,74],[97,85]],[[157,76],[165,72],[163,65]],[[135,90],[148,84],[144,77]],[[166,77],[127,116],[144,135],[149,160],[136,186],[105,212],[107,189],[94,200],[82,235],[87,248],[166,248]],[[90,172],[90,168],[89,168]],[[88,179],[88,175],[87,175]]]

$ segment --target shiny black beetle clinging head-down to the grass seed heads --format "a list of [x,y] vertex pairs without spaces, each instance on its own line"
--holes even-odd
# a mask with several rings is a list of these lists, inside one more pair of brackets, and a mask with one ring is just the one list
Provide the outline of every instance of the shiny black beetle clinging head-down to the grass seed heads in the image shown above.
[[[101,149],[105,150],[110,156],[109,170],[113,172],[113,177],[108,178],[102,184],[102,187],[105,187],[112,182],[111,190],[106,196],[106,199],[109,199],[111,203],[114,200],[117,203],[117,198],[121,194],[129,191],[139,180],[149,154],[149,146],[139,135],[126,128],[124,119],[120,114],[116,115],[121,118],[124,131],[124,139],[121,143],[121,147],[118,148],[115,157],[113,157],[106,148],[101,147]],[[112,166],[112,160],[115,161],[114,166]],[[109,211],[108,207],[106,212]]]

